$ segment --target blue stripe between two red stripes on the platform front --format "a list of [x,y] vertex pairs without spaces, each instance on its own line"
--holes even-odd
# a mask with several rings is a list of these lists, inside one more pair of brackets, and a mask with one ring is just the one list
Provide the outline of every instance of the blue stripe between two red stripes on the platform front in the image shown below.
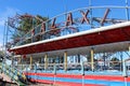
[[[29,78],[36,78],[35,75],[28,75]],[[53,81],[54,77],[48,76],[37,76],[37,80],[47,80]],[[69,77],[55,77],[55,82],[67,82],[67,83],[82,83],[81,78],[69,78]],[[103,81],[103,80],[83,80],[84,84],[99,84],[105,86],[126,86],[125,82],[116,82],[116,81]],[[130,82],[127,83],[127,86],[130,86]]]

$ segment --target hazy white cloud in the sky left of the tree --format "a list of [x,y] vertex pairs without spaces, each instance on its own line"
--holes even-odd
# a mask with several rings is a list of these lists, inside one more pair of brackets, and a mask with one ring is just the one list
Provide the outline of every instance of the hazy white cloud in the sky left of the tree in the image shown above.
[[21,13],[21,11],[13,8],[6,8],[4,11],[0,12],[0,26],[4,26],[4,22],[8,17],[15,16],[16,13]]

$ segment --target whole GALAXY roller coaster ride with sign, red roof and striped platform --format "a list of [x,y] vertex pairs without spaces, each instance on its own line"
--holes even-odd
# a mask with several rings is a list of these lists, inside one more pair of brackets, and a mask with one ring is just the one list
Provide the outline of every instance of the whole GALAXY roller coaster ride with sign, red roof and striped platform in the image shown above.
[[[12,64],[32,82],[62,86],[129,86],[129,9],[89,6],[47,22],[29,14],[16,15],[6,22],[4,45],[8,44],[6,49],[13,55],[12,60],[17,60],[17,64]],[[11,34],[23,31],[17,27],[25,17],[41,24],[11,41]],[[74,57],[78,62],[68,63]],[[110,60],[113,57],[119,60]]]

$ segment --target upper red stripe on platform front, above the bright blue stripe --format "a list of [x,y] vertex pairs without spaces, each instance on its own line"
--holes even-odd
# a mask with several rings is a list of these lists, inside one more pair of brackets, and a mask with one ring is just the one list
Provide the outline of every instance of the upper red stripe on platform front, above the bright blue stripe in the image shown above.
[[[25,73],[26,75],[39,75],[39,76],[49,76],[53,77],[53,73]],[[82,75],[79,74],[56,74],[56,77],[66,77],[66,78],[82,78]],[[86,80],[104,80],[104,81],[118,81],[123,82],[123,76],[117,75],[84,75]],[[127,82],[130,82],[130,77],[127,77]]]

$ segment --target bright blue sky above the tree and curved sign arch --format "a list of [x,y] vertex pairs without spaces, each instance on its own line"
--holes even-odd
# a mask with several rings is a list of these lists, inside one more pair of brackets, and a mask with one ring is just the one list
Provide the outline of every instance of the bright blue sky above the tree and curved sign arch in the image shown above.
[[[125,5],[126,0],[91,0],[92,5]],[[130,0],[129,4],[130,4]],[[8,16],[29,13],[53,17],[66,10],[89,5],[89,0],[0,0],[0,44],[3,41],[3,24]]]

